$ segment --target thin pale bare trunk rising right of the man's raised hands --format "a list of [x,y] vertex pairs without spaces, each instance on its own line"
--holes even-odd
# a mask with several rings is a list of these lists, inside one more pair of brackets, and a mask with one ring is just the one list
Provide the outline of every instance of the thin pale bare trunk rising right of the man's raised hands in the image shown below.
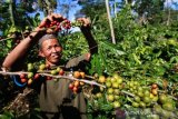
[[112,27],[112,20],[110,18],[110,10],[109,10],[108,0],[106,0],[106,8],[107,8],[107,14],[108,14],[108,20],[109,20],[110,31],[111,31],[112,43],[116,44],[115,32],[113,32],[113,27]]

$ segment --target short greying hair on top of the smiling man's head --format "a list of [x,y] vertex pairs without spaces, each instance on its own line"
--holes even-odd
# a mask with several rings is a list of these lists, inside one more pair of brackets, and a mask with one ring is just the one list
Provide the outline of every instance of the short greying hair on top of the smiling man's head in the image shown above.
[[56,34],[44,34],[43,37],[41,37],[39,39],[39,42],[38,42],[38,46],[39,46],[39,49],[41,49],[41,46],[42,46],[42,42],[44,40],[49,40],[49,39],[58,39]]

